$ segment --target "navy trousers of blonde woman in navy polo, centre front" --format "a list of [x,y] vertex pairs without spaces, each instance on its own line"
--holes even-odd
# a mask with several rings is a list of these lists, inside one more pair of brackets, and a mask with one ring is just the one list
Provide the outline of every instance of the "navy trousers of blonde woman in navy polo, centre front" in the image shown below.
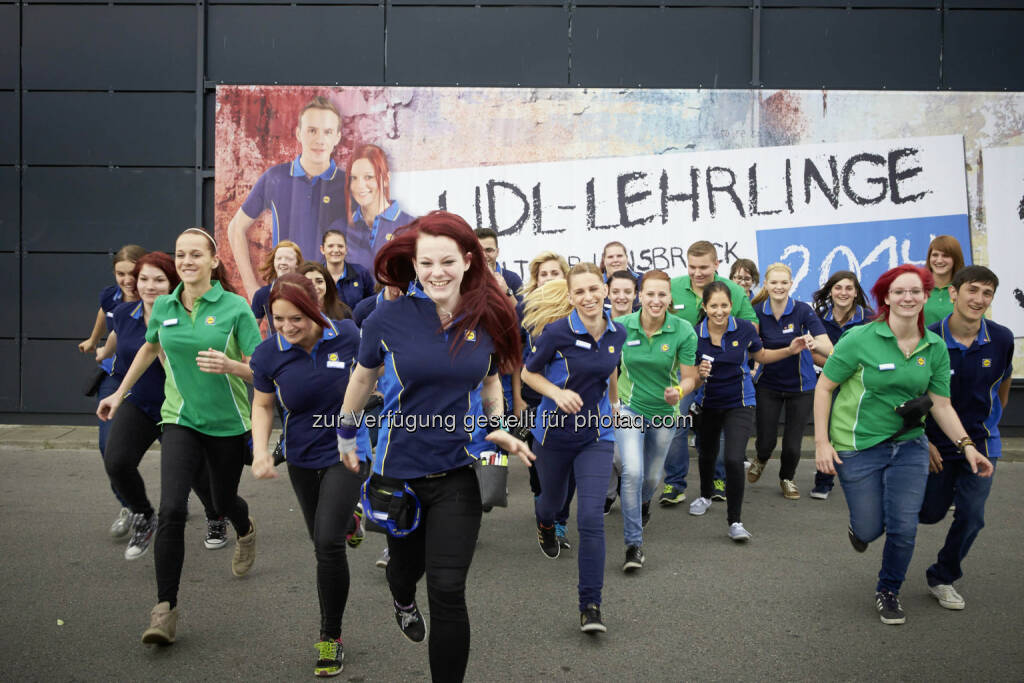
[[541,497],[537,520],[552,524],[568,498],[569,473],[575,475],[577,525],[580,529],[580,609],[601,604],[604,587],[604,493],[611,476],[612,441],[590,441],[579,447],[534,443]]

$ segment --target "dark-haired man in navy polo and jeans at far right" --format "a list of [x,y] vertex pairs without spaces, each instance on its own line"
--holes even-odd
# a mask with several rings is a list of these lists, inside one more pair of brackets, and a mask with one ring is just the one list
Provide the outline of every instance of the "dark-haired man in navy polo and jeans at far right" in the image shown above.
[[[981,265],[962,268],[949,283],[953,312],[930,330],[949,350],[949,390],[953,408],[968,436],[994,467],[1001,455],[999,418],[1010,399],[1014,335],[985,319],[999,280]],[[935,564],[928,567],[928,590],[946,609],[964,609],[964,598],[953,582],[964,575],[961,563],[985,525],[985,501],[992,478],[971,473],[964,459],[964,442],[953,443],[929,416],[925,423],[931,452],[928,487],[920,520],[934,524],[955,504],[953,523]]]

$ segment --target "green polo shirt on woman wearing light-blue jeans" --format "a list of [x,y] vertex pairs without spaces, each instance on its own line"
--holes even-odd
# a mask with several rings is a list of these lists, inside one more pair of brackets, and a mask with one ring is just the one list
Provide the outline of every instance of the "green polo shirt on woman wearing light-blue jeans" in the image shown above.
[[665,402],[665,389],[679,383],[679,366],[696,365],[697,335],[693,326],[666,315],[662,329],[648,339],[639,310],[616,317],[615,323],[626,328],[618,364],[618,399],[648,419],[678,415],[678,403]]

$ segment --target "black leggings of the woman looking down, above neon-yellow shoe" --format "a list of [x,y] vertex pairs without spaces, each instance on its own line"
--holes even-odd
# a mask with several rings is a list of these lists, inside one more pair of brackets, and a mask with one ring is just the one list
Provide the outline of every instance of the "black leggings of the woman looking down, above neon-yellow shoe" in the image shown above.
[[299,499],[316,555],[321,640],[341,638],[349,583],[345,535],[367,470],[364,464],[359,472],[352,472],[340,462],[318,470],[288,465],[288,478]]

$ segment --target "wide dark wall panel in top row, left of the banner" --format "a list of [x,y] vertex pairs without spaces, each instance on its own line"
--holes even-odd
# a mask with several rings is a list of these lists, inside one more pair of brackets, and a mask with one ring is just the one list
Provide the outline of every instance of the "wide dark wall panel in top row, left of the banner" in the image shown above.
[[196,7],[27,5],[22,47],[30,90],[190,90]]

